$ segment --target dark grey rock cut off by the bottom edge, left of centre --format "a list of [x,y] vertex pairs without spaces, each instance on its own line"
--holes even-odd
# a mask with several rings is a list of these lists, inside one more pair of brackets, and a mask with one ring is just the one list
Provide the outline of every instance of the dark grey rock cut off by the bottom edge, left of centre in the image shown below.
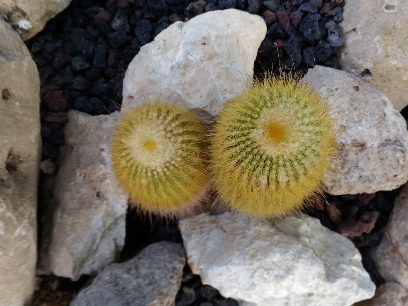
[[107,266],[71,306],[174,305],[185,262],[180,244],[151,244],[133,259]]

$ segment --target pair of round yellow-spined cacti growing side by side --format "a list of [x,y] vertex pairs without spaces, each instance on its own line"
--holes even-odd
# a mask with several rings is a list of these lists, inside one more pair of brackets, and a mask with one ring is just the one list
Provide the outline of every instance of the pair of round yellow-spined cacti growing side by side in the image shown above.
[[112,161],[143,212],[181,216],[212,185],[233,210],[281,217],[322,193],[336,138],[326,101],[298,80],[269,76],[228,101],[210,137],[174,105],[127,112],[113,138]]

